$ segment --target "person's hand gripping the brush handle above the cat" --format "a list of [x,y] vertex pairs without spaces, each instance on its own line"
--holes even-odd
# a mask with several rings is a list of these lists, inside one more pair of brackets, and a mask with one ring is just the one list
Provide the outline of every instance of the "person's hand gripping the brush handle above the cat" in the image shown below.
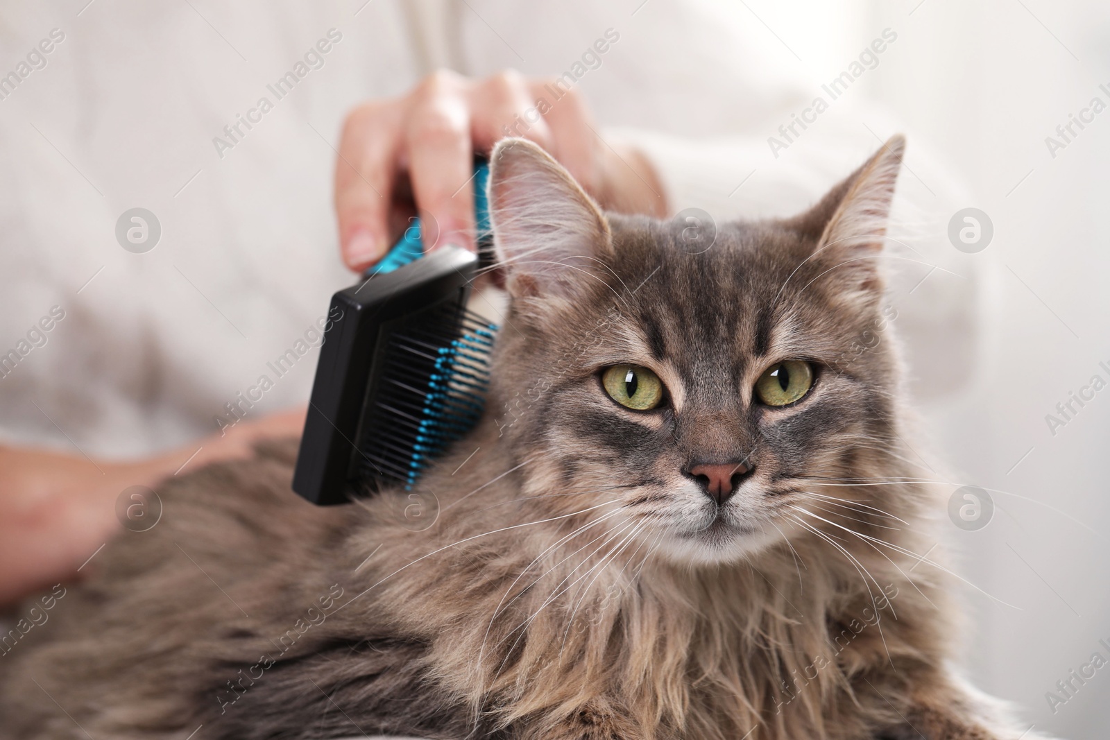
[[577,91],[556,100],[553,88],[553,80],[514,71],[485,80],[438,71],[400,98],[351,111],[335,164],[346,265],[362,271],[376,263],[416,214],[426,245],[474,250],[474,197],[465,186],[473,155],[488,154],[504,136],[543,146],[602,207],[663,216],[663,187],[647,159],[603,141]]

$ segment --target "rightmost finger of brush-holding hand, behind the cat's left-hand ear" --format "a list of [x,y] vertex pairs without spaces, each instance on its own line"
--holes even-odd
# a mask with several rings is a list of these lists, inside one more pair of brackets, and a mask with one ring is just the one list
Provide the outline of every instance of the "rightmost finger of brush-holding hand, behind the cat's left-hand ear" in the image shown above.
[[585,101],[576,90],[556,87],[556,80],[533,81],[529,89],[551,131],[552,149],[548,151],[552,156],[574,175],[583,190],[594,197],[599,196],[605,144],[594,130]]

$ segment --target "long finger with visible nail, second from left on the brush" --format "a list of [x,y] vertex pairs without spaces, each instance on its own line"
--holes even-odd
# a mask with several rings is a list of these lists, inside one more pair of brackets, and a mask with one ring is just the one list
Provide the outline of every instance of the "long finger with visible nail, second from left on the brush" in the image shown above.
[[432,74],[417,90],[405,123],[416,210],[422,220],[431,217],[438,233],[432,244],[424,244],[426,251],[443,244],[475,250],[473,149],[464,87],[454,73]]

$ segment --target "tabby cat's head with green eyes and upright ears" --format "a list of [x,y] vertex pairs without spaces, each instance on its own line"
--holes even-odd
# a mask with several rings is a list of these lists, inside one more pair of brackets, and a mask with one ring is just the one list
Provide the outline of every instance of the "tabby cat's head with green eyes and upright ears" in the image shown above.
[[877,475],[898,383],[877,257],[904,146],[794,219],[714,229],[604,215],[538,146],[500,143],[512,301],[487,414],[532,510],[720,562],[801,531],[809,493],[848,489],[814,481]]

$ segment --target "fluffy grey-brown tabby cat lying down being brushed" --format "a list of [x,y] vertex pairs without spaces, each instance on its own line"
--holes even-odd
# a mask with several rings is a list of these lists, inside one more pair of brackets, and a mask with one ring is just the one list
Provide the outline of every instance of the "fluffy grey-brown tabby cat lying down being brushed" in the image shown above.
[[294,442],[164,481],[0,657],[0,734],[1015,740],[952,663],[896,343],[851,351],[904,148],[710,234],[503,140],[478,427],[347,506],[290,490]]

